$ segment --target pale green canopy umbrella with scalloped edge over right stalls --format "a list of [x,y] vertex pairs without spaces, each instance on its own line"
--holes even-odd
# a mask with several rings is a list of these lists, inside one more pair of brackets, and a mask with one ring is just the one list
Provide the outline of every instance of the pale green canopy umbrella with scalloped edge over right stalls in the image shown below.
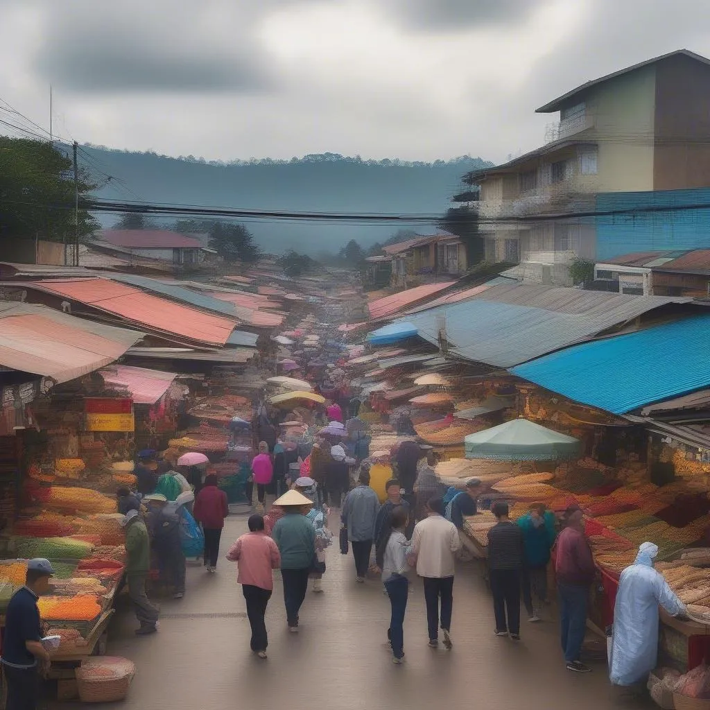
[[581,442],[574,437],[541,427],[527,419],[470,434],[464,439],[467,459],[489,461],[557,461],[581,454]]

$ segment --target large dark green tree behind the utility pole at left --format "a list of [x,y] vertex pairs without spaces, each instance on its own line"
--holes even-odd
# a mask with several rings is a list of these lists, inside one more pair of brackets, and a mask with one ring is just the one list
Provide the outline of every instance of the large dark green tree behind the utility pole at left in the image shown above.
[[[73,241],[75,188],[72,160],[51,143],[0,136],[0,235],[11,238]],[[79,200],[92,185],[79,171]],[[79,236],[98,228],[79,210]]]

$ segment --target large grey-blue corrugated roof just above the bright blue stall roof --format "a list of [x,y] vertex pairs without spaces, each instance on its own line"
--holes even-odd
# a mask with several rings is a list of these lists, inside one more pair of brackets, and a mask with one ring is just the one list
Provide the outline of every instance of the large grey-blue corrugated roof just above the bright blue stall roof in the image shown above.
[[467,301],[406,320],[420,337],[438,345],[439,316],[445,316],[452,354],[507,368],[590,339],[662,305],[690,301],[516,283],[493,286]]

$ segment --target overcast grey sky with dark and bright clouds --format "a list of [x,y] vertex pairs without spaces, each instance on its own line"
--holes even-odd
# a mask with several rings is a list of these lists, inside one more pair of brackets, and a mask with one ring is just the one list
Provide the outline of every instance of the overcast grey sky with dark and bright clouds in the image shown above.
[[0,99],[80,142],[208,159],[505,160],[536,107],[679,48],[707,0],[0,0]]

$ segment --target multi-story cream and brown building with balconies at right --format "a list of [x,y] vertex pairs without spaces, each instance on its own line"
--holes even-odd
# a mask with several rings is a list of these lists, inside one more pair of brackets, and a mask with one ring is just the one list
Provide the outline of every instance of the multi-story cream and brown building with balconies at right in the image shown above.
[[[480,187],[486,261],[519,263],[525,280],[569,284],[575,258],[708,243],[709,231],[688,229],[682,243],[673,230],[651,239],[648,224],[628,215],[651,214],[656,202],[672,212],[676,190],[684,204],[708,202],[710,60],[678,50],[641,62],[537,109],[557,112],[541,148],[466,176]],[[710,228],[710,212],[707,220]]]

